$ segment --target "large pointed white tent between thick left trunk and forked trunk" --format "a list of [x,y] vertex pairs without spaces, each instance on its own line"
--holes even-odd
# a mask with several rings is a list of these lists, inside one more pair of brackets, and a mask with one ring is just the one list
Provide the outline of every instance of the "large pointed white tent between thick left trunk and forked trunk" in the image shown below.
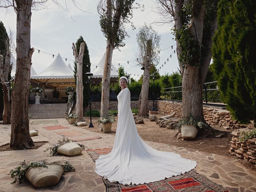
[[65,64],[60,54],[56,56],[46,70],[39,74],[31,75],[30,79],[33,83],[43,83],[52,88],[75,86],[74,72]]

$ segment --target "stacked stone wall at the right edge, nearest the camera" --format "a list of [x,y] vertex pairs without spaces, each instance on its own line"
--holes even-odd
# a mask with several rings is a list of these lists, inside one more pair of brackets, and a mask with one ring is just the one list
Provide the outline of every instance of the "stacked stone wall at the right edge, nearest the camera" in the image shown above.
[[244,142],[239,141],[240,133],[248,131],[248,128],[243,128],[232,132],[233,137],[230,142],[229,153],[237,158],[256,164],[256,138],[251,138]]

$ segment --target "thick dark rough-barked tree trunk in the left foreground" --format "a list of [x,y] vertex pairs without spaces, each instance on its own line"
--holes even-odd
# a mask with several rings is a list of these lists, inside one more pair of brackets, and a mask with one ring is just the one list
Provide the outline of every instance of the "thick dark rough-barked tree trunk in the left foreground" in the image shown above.
[[26,149],[34,146],[29,134],[28,97],[31,57],[34,48],[30,48],[30,24],[32,0],[16,0],[16,74],[12,91],[12,117],[10,147]]

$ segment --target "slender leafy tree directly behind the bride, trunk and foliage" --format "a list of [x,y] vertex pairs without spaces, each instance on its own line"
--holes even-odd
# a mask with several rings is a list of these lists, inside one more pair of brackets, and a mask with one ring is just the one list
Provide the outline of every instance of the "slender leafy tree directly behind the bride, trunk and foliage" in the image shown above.
[[[114,48],[125,46],[124,38],[128,36],[125,24],[132,24],[132,4],[135,0],[100,0],[98,13],[100,14],[100,27],[107,39],[106,59],[102,76],[101,116],[108,115],[110,72]],[[134,26],[132,25],[134,28]],[[102,130],[102,128],[100,128]]]

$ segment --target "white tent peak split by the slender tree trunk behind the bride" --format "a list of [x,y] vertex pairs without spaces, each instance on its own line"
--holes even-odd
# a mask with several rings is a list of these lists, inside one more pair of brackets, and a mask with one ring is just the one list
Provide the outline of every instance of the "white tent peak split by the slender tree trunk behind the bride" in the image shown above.
[[[97,68],[95,67],[94,69],[91,70],[91,73],[93,74],[93,78],[102,78],[105,57],[106,57],[106,53],[104,53],[104,55],[102,56],[100,62],[97,65]],[[111,65],[110,77],[118,78],[117,69],[113,64]]]

